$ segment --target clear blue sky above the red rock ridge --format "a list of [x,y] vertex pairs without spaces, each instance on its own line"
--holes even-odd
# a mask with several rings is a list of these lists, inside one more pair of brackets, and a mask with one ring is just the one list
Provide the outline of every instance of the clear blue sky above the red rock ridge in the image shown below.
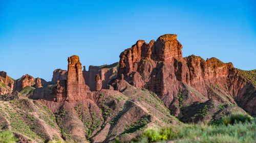
[[255,1],[0,0],[0,70],[48,81],[67,58],[111,64],[137,40],[178,34],[183,55],[256,68]]

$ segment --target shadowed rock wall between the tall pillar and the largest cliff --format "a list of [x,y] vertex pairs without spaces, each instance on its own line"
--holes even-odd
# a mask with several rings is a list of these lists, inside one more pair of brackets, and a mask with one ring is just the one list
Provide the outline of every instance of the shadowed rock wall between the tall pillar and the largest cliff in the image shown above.
[[87,71],[85,66],[83,68],[83,78],[91,91],[96,91],[95,77],[99,74],[102,81],[102,88],[106,88],[112,79],[117,76],[118,62],[111,65],[89,66]]

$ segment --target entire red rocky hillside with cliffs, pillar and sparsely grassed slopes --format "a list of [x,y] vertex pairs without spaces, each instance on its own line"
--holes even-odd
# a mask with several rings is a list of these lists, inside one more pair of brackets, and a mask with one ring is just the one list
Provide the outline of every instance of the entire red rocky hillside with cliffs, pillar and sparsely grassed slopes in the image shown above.
[[[20,142],[130,142],[148,129],[195,128],[194,139],[181,134],[160,139],[189,142],[201,138],[201,128],[210,128],[213,137],[223,133],[213,124],[226,116],[256,115],[256,70],[240,70],[217,58],[183,57],[182,48],[175,34],[139,40],[119,62],[88,71],[74,55],[68,70],[54,70],[49,82],[28,74],[14,80],[1,71],[0,129]],[[250,123],[245,128],[255,126]]]

